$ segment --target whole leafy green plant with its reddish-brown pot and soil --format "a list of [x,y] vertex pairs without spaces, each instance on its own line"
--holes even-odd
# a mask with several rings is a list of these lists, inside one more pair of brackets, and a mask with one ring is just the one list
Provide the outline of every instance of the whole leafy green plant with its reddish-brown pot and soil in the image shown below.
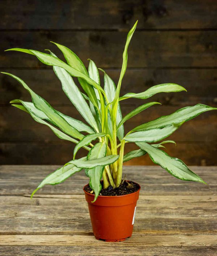
[[[127,49],[136,24],[137,22],[127,35],[117,86],[105,71],[99,69],[104,73],[104,86],[101,86],[99,71],[95,63],[89,60],[89,68],[86,70],[80,58],[63,45],[54,43],[64,54],[67,63],[61,61],[52,52],[42,53],[21,48],[9,49],[32,54],[44,64],[53,66],[65,94],[86,123],[55,110],[47,101],[33,92],[23,80],[13,74],[2,72],[20,82],[32,98],[32,102],[14,99],[10,102],[12,106],[26,111],[35,121],[50,127],[60,139],[76,144],[73,159],[48,175],[31,196],[45,184],[59,184],[84,169],[86,176],[90,179],[89,184],[84,186],[84,192],[93,232],[97,239],[106,241],[121,241],[132,235],[140,186],[135,182],[122,180],[123,162],[147,154],[154,163],[176,178],[205,183],[182,160],[170,157],[159,148],[163,148],[164,143],[175,143],[162,140],[171,135],[184,122],[205,111],[217,109],[203,104],[184,107],[170,115],[143,123],[124,134],[125,121],[148,107],[160,103],[144,103],[122,118],[120,101],[129,98],[148,99],[162,92],[186,91],[178,84],[159,84],[141,93],[127,93],[120,96],[122,79],[127,68]],[[78,89],[72,77],[78,78],[85,93]],[[98,142],[94,143],[95,140]],[[136,143],[139,149],[124,154],[124,146],[129,142]],[[86,157],[76,159],[76,154],[81,147],[86,149],[88,154]]]

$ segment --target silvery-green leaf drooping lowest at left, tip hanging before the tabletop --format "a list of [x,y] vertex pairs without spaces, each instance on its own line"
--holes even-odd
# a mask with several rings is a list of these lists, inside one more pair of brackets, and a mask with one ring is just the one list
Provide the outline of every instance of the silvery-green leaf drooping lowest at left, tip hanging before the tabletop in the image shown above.
[[[85,159],[86,157],[82,158]],[[76,172],[81,171],[82,168],[78,168],[70,164],[70,166],[62,166],[58,168],[56,171],[49,174],[42,182],[38,185],[38,187],[33,191],[31,197],[35,194],[39,188],[42,188],[44,185],[56,185],[64,182],[64,180],[68,179],[70,176],[75,174]]]

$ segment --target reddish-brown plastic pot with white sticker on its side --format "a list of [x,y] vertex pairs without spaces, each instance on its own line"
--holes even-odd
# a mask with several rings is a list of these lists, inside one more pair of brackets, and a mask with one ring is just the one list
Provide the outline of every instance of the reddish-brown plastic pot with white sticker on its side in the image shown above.
[[118,242],[132,236],[139,191],[140,186],[139,190],[128,195],[98,196],[97,200],[92,203],[94,195],[84,189],[96,239]]

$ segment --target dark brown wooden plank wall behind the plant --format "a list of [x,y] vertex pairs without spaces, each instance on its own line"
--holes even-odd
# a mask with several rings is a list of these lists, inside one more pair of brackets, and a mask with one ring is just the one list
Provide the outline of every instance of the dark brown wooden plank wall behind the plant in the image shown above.
[[[59,111],[80,118],[61,91],[52,69],[24,53],[4,52],[20,47],[59,50],[49,41],[71,48],[85,65],[88,58],[118,81],[128,30],[139,23],[128,50],[128,69],[121,94],[141,92],[156,84],[175,82],[188,92],[158,94],[160,101],[125,123],[125,130],[184,107],[217,106],[216,0],[74,0],[0,1],[0,68],[21,77]],[[63,164],[73,145],[61,141],[48,127],[9,105],[29,100],[13,78],[0,76],[0,163]],[[122,102],[127,114],[142,100]],[[191,165],[217,164],[217,113],[204,113],[185,123],[170,139],[167,152]],[[135,146],[126,146],[126,151]],[[80,156],[84,154],[81,150]],[[79,156],[79,154],[78,154]],[[152,164],[148,157],[127,164]]]

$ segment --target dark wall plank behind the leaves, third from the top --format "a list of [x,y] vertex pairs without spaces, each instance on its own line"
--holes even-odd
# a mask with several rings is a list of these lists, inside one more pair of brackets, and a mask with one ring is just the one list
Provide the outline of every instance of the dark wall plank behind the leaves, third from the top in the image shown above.
[[[52,69],[4,69],[4,71],[21,77],[34,92],[47,99],[51,105],[72,105]],[[117,84],[120,69],[105,69],[105,71]],[[103,76],[102,73],[100,74],[103,85]],[[13,78],[1,75],[0,81],[0,104],[8,104],[12,99],[30,99],[29,93]],[[153,85],[174,82],[184,86],[188,92],[161,93],[151,99],[167,105],[196,103],[212,105],[216,104],[216,81],[216,69],[127,69],[121,95],[129,92],[140,93]],[[81,86],[79,88],[81,89]],[[142,101],[135,99],[121,102],[122,105],[140,103]]]

